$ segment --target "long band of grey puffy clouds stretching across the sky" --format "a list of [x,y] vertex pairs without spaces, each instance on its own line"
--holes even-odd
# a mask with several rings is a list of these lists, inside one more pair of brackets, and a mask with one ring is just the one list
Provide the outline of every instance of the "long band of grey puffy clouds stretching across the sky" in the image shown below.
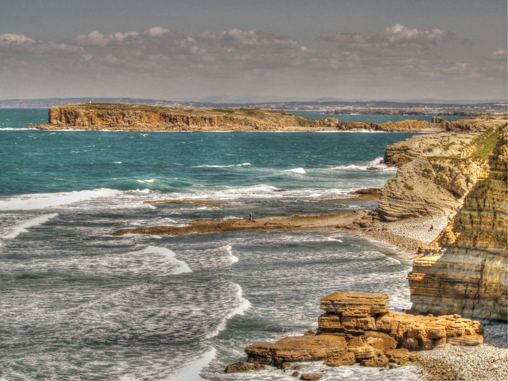
[[[106,80],[133,83],[142,78],[161,84],[186,80],[216,86],[231,81],[233,88],[240,83],[259,88],[263,81],[310,83],[317,79],[325,84],[372,81],[387,85],[394,78],[410,83],[505,79],[506,72],[501,70],[506,67],[505,50],[492,52],[479,65],[475,59],[453,56],[449,44],[458,49],[463,46],[448,31],[401,24],[370,37],[341,33],[310,45],[266,31],[237,28],[185,36],[153,26],[109,35],[92,31],[61,42],[5,34],[0,35],[0,75],[31,70],[48,78],[102,75]],[[291,86],[296,85],[292,82]]]

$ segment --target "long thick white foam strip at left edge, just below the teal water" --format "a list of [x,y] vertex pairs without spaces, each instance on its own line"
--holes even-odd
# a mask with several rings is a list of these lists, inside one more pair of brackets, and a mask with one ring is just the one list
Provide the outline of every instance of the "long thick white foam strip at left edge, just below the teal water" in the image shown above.
[[121,193],[120,190],[108,188],[75,190],[74,192],[34,193],[0,200],[0,210],[44,209],[98,197],[117,196]]

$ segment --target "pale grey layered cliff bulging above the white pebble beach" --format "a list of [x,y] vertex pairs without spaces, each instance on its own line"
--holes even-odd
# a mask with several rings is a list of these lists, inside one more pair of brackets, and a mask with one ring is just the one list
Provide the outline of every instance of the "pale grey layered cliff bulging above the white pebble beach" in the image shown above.
[[487,164],[472,155],[478,135],[421,135],[387,147],[385,163],[399,167],[379,196],[383,221],[448,216],[485,172]]

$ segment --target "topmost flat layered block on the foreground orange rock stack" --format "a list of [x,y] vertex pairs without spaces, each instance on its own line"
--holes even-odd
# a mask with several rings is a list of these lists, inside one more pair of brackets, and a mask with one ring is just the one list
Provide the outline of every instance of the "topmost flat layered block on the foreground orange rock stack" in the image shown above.
[[388,294],[336,292],[321,299],[321,308],[342,316],[374,316],[388,313]]

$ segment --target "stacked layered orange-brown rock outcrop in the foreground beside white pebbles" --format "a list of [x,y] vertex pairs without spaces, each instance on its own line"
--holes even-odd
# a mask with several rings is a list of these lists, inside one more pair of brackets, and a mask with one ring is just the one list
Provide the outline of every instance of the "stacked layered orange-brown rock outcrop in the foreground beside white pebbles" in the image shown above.
[[290,336],[275,343],[257,342],[245,352],[252,364],[282,367],[286,362],[324,361],[329,366],[385,366],[404,363],[408,350],[428,350],[451,343],[483,342],[479,322],[460,315],[418,316],[388,310],[387,294],[338,292],[321,299],[326,312],[315,335]]

